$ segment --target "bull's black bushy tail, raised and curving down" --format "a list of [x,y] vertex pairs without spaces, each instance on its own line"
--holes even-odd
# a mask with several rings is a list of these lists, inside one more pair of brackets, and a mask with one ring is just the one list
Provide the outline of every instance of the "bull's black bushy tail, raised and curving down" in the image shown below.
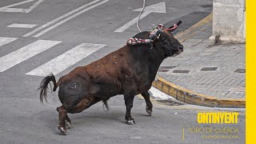
[[[49,74],[48,76],[46,76],[46,78],[42,79],[42,82],[38,88],[38,90],[40,90],[40,102],[43,103],[43,98],[45,98],[46,102],[47,102],[47,88],[48,88],[48,84],[51,82],[54,83],[54,91],[57,89],[57,83],[56,83],[56,79],[54,77],[54,74]],[[51,86],[50,86],[51,87]]]

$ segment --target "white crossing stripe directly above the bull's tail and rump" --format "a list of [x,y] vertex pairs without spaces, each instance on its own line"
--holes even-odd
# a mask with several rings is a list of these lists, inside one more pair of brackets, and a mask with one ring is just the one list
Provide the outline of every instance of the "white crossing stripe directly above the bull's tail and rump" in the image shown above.
[[37,76],[46,76],[50,73],[58,74],[104,46],[106,45],[82,43],[26,74]]

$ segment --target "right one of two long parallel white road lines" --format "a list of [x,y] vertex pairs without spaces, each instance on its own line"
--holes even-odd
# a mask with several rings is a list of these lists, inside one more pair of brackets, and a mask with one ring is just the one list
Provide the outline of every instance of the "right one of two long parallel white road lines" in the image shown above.
[[79,11],[77,14],[73,14],[73,15],[71,15],[70,17],[63,19],[61,22],[58,22],[58,23],[54,24],[54,26],[50,26],[50,27],[48,27],[46,30],[42,30],[40,33],[35,34],[33,37],[37,38],[37,37],[41,36],[42,34],[45,34],[46,32],[48,32],[48,31],[50,31],[50,30],[53,30],[55,27],[60,26],[62,23],[67,22],[67,21],[69,21],[70,19],[75,18],[75,17],[77,17],[78,15],[80,15],[80,14],[86,12],[87,10],[93,9],[94,7],[99,6],[99,5],[102,5],[103,3],[108,2],[108,1],[109,1],[109,0],[105,0],[105,1],[102,1],[102,2],[98,2],[97,4],[95,4],[95,5],[93,5],[93,6],[89,6],[88,8]]

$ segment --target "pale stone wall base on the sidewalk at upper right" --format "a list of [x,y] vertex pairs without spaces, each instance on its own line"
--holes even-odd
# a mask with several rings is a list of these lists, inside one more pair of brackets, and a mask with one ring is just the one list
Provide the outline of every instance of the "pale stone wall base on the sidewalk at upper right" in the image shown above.
[[213,0],[210,45],[245,43],[245,0]]

